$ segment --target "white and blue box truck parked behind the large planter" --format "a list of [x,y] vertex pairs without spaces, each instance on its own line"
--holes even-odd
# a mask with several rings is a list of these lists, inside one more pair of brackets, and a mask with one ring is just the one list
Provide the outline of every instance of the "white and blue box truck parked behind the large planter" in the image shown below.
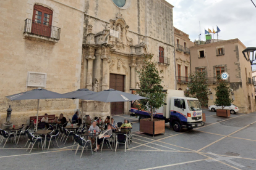
[[[179,132],[182,128],[193,129],[204,126],[202,108],[198,99],[184,97],[184,91],[168,90],[166,102],[163,107],[156,110],[154,118],[169,122],[173,130]],[[130,108],[131,116],[139,116],[139,120],[149,118],[147,111]]]

